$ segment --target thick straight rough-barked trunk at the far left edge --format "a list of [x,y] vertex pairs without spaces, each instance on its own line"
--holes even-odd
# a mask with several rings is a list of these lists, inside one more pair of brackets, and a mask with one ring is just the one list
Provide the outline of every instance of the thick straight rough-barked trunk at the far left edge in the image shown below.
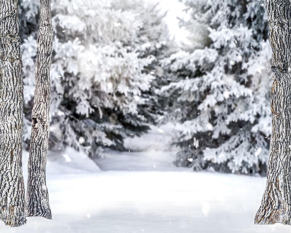
[[18,227],[26,222],[18,1],[0,0],[0,10],[0,219]]

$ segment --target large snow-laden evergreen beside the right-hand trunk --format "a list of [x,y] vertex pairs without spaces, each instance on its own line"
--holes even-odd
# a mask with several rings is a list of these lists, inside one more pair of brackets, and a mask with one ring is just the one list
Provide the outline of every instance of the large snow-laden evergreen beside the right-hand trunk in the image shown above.
[[176,164],[261,172],[271,132],[265,8],[250,1],[183,2],[191,19],[181,24],[207,33],[199,40],[192,33],[193,44],[165,60],[173,80],[160,91],[169,99],[164,121],[183,126]]

